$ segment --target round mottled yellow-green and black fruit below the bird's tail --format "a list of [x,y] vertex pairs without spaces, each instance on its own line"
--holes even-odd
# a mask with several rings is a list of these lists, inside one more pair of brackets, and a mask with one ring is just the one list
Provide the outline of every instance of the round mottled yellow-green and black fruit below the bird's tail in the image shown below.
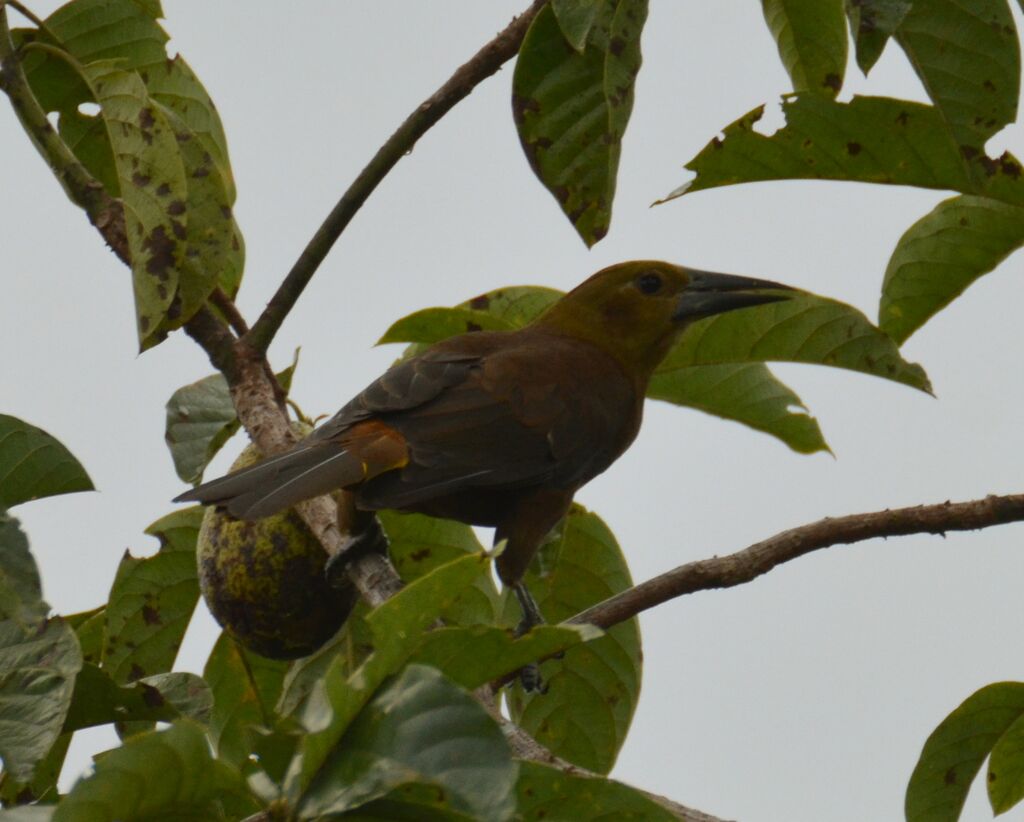
[[[231,468],[259,459],[250,445]],[[200,589],[216,620],[271,659],[311,654],[337,633],[357,599],[352,589],[328,585],[327,554],[293,510],[247,522],[208,508],[197,557]]]

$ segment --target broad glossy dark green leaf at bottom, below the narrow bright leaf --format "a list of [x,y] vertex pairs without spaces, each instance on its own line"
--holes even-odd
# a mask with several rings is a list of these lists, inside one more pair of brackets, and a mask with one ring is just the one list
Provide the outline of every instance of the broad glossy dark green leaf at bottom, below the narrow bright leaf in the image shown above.
[[442,808],[510,819],[516,764],[483,707],[437,670],[409,665],[359,712],[299,806],[339,813],[407,784],[443,791]]

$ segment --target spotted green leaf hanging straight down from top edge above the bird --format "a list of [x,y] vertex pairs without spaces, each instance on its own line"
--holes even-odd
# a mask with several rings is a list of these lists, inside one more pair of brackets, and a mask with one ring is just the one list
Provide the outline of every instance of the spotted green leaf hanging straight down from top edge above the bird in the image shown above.
[[646,17],[646,0],[602,0],[581,52],[548,6],[519,49],[512,78],[519,140],[588,246],[607,233],[611,220]]

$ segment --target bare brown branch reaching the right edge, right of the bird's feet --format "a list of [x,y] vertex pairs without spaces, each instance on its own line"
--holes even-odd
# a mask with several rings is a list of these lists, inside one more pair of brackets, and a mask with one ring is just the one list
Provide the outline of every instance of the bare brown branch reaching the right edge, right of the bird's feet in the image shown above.
[[972,531],[1022,520],[1024,493],[826,517],[777,533],[735,554],[680,565],[588,608],[568,621],[609,628],[685,594],[749,582],[776,565],[830,546],[860,543],[877,536]]

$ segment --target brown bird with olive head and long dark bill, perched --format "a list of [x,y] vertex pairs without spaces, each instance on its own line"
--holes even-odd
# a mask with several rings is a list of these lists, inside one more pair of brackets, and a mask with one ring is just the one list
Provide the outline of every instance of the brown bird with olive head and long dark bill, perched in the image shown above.
[[790,291],[666,262],[612,265],[519,331],[463,334],[397,363],[290,450],[175,502],[258,519],[344,488],[361,510],[494,526],[526,630],[541,621],[526,566],[577,490],[633,442],[673,343],[696,319]]

